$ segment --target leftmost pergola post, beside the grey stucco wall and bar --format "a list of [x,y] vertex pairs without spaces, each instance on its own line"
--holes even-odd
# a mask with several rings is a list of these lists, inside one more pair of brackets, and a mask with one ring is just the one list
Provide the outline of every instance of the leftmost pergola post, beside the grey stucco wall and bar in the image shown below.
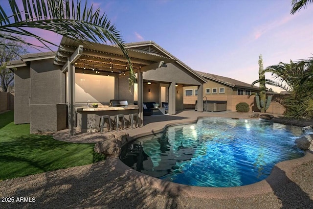
[[67,60],[67,86],[68,86],[68,135],[75,135],[75,67]]

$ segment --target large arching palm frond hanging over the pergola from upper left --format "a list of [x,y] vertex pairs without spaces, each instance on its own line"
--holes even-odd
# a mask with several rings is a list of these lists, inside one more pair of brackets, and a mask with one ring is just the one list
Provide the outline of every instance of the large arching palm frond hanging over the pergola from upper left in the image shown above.
[[[11,8],[9,16],[0,5],[0,32],[5,32],[4,35],[0,34],[0,38],[22,42],[38,48],[38,46],[17,39],[14,36],[17,34],[36,38],[44,45],[43,48],[49,48],[48,44],[56,46],[54,43],[24,29],[40,28],[53,31],[80,43],[106,44],[110,42],[119,46],[124,53],[129,65],[130,85],[134,83],[133,66],[120,32],[116,30],[115,25],[111,24],[105,13],[100,13],[99,8],[94,10],[93,5],[88,8],[87,1],[82,7],[80,0],[77,1],[76,5],[73,0],[23,0],[23,8],[20,10],[21,8],[15,0],[8,0],[8,2]],[[21,2],[19,1],[19,3]],[[3,44],[0,43],[0,45]]]

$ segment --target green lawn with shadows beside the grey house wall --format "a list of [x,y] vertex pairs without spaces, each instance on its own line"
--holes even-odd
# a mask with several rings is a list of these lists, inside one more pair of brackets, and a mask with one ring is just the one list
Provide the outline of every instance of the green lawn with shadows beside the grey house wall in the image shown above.
[[104,160],[93,147],[29,134],[29,124],[15,125],[14,111],[5,112],[0,114],[0,181]]

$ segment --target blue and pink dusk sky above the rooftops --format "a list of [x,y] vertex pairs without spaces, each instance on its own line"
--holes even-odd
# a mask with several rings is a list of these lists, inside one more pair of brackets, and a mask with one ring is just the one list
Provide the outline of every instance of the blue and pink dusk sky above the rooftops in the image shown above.
[[[313,4],[291,15],[291,0],[88,2],[107,14],[126,43],[152,40],[193,70],[249,84],[258,79],[260,54],[264,68],[313,56]],[[40,34],[57,44],[62,38]]]

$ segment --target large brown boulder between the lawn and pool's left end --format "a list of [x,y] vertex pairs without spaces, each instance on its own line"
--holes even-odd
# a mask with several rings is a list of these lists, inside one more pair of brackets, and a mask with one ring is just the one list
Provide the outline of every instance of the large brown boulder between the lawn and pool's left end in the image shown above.
[[121,144],[121,141],[115,138],[99,141],[94,145],[94,151],[100,154],[118,157],[121,153]]

